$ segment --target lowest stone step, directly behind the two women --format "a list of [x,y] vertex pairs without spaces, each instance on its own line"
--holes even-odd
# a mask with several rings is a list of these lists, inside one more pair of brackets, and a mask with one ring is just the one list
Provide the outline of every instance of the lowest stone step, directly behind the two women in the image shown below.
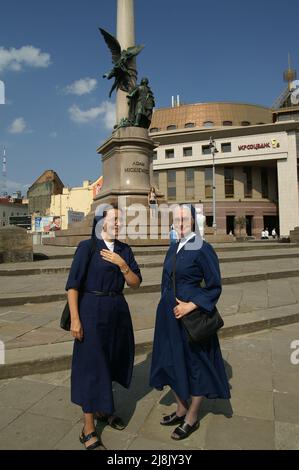
[[[298,322],[297,303],[285,306],[283,310],[275,307],[227,317],[219,336],[227,338]],[[137,355],[152,349],[153,335],[153,328],[135,332]],[[5,364],[0,367],[0,380],[67,370],[71,365],[72,349],[71,339],[53,344],[8,349],[5,354]]]

